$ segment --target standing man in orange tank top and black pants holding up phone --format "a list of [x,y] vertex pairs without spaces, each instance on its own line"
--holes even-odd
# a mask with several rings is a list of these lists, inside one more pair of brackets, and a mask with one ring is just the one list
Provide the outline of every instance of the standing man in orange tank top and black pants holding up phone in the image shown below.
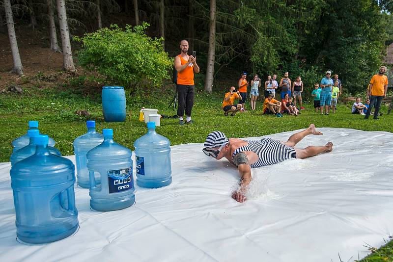
[[192,124],[191,110],[194,105],[194,72],[199,73],[197,58],[188,55],[187,40],[180,41],[181,53],[175,57],[174,65],[177,71],[177,115],[179,117],[180,126],[184,125],[183,115],[186,109],[186,124]]

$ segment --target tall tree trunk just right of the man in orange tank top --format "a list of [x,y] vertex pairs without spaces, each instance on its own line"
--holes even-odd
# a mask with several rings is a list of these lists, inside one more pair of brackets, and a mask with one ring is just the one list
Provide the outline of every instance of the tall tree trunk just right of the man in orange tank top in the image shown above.
[[209,31],[209,53],[207,54],[205,91],[211,94],[213,90],[214,61],[216,51],[216,0],[210,0]]

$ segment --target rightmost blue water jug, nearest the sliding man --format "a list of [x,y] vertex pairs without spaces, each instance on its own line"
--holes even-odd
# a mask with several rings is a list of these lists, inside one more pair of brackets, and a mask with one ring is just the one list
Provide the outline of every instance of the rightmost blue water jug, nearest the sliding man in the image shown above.
[[156,133],[155,122],[147,122],[147,133],[135,143],[137,184],[157,188],[172,182],[170,141]]

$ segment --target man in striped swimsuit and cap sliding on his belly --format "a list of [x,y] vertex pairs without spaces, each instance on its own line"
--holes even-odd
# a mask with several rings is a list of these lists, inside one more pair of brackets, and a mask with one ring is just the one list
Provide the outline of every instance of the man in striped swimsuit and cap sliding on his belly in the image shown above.
[[241,179],[240,189],[233,192],[232,197],[238,202],[247,200],[245,193],[247,185],[251,182],[251,168],[264,165],[272,165],[289,158],[307,158],[320,153],[330,152],[333,143],[328,142],[325,146],[309,146],[305,149],[293,148],[306,135],[321,135],[314,124],[308,129],[291,135],[286,142],[262,138],[261,140],[248,141],[238,138],[228,139],[221,131],[211,132],[203,144],[205,155],[221,159],[225,157],[230,163],[237,166]]

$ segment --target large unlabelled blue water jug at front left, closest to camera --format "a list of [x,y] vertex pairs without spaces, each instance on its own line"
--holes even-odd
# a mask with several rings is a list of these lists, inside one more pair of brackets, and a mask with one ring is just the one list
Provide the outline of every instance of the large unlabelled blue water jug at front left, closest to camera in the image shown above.
[[49,153],[48,136],[34,138],[35,154],[12,166],[16,235],[28,243],[48,243],[72,235],[79,226],[75,207],[75,166]]

